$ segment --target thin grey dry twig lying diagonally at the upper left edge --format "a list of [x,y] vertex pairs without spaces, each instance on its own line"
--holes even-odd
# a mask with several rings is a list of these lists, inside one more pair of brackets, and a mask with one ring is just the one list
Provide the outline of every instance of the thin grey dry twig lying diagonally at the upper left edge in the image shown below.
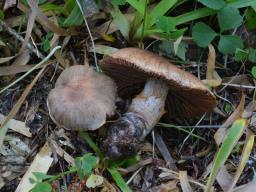
[[[19,35],[14,29],[9,27],[4,21],[0,20],[0,26],[3,27],[10,35],[14,36],[17,40],[19,40],[20,42],[24,42],[24,38]],[[26,47],[33,53],[35,53],[35,55],[40,59],[45,58],[45,56],[40,51],[38,51],[31,43],[27,43]]]

